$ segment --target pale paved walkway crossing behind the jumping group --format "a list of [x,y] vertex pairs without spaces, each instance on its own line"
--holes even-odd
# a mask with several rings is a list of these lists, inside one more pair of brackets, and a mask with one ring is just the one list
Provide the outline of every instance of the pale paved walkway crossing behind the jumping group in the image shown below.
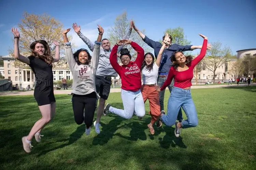
[[[256,86],[256,83],[251,83],[252,86]],[[195,88],[219,88],[219,87],[229,87],[229,86],[237,86],[237,84],[232,84],[232,85],[205,85],[205,86],[191,86],[191,89]],[[239,86],[248,86],[247,84],[240,84]],[[167,88],[168,89],[168,88]],[[54,90],[54,94],[71,94],[71,89],[70,90]],[[110,92],[121,92],[121,88],[112,88],[110,89]],[[34,95],[34,91],[0,91],[0,96],[17,96],[17,95]]]

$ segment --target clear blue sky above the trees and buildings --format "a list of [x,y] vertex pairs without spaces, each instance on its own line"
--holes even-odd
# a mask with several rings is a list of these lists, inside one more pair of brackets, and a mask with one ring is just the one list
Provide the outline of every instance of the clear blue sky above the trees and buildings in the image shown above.
[[[223,47],[227,45],[233,54],[237,54],[237,50],[256,48],[255,7],[255,0],[1,0],[0,55],[8,55],[8,49],[13,47],[11,28],[21,23],[25,11],[46,13],[60,21],[63,29],[71,28],[76,49],[86,45],[72,29],[72,23],[79,24],[81,32],[94,42],[98,36],[97,24],[107,32],[114,26],[115,18],[126,11],[128,19],[135,21],[139,30],[145,29],[145,35],[155,41],[166,29],[182,27],[191,45],[202,45],[202,38],[198,35],[201,33],[210,43],[220,41]],[[103,38],[106,36],[104,33]]]

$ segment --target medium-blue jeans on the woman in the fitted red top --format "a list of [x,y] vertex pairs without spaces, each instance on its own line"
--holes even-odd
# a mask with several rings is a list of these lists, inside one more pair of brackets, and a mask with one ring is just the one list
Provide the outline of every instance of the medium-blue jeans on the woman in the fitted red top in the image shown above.
[[174,125],[180,108],[183,108],[187,120],[181,122],[182,128],[191,128],[198,125],[197,111],[191,97],[191,91],[173,87],[168,100],[167,115],[161,116],[163,123],[167,126]]

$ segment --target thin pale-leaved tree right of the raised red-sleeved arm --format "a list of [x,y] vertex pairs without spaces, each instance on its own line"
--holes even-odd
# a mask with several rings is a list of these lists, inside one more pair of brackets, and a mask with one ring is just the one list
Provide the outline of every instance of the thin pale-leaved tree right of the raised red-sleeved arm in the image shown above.
[[216,70],[222,66],[230,58],[232,51],[229,46],[222,48],[220,41],[211,44],[212,48],[208,50],[207,56],[204,58],[206,68],[213,72],[213,83],[215,83]]

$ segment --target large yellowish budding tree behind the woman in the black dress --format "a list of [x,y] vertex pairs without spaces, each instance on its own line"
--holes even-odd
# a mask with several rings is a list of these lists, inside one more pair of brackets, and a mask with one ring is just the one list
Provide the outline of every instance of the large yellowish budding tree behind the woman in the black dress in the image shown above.
[[[24,56],[31,55],[30,44],[35,40],[45,40],[51,49],[51,55],[55,55],[55,45],[53,41],[56,40],[60,44],[63,43],[61,30],[62,24],[55,18],[47,15],[36,15],[24,13],[22,22],[18,24],[20,32],[19,51]],[[69,37],[71,39],[72,37]],[[11,56],[13,55],[13,49],[9,49]],[[65,52],[62,46],[60,46],[60,56],[64,56]],[[66,60],[61,57],[59,62],[53,63],[53,67],[57,67],[66,63]],[[28,65],[16,60],[14,65],[20,69],[29,68]]]

